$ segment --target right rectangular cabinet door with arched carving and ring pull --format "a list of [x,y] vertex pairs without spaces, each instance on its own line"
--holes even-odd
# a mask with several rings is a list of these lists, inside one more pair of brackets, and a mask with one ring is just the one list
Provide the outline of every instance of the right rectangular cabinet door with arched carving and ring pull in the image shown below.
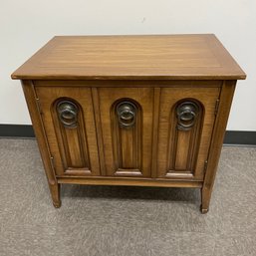
[[157,176],[203,179],[219,88],[163,88]]

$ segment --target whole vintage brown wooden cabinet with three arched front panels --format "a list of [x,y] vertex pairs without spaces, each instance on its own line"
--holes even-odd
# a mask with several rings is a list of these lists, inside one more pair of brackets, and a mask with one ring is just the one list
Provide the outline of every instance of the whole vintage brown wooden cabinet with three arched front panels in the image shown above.
[[194,187],[202,212],[245,77],[214,35],[55,37],[12,74],[54,206],[63,183]]

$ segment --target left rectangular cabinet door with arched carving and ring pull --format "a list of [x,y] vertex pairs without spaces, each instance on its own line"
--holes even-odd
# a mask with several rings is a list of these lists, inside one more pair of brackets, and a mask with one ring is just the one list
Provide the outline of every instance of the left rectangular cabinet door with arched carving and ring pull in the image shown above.
[[57,175],[100,175],[91,89],[36,87]]

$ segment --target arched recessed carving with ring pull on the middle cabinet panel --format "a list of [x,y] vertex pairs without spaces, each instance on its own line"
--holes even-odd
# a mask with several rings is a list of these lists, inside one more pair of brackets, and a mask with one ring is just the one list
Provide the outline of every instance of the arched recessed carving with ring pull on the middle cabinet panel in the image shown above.
[[116,174],[141,175],[142,112],[138,103],[120,99],[111,110]]

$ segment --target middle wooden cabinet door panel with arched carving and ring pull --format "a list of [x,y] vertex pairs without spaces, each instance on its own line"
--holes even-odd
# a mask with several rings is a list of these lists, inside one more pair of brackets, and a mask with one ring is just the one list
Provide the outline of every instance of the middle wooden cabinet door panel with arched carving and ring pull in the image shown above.
[[153,89],[98,89],[107,175],[150,176]]

